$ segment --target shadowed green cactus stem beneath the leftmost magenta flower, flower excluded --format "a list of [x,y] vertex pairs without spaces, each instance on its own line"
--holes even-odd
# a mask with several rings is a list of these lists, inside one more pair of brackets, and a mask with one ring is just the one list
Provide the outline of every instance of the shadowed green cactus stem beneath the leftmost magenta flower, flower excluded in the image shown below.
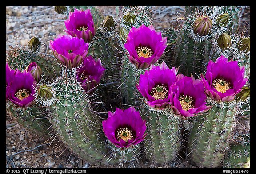
[[33,105],[27,108],[16,108],[10,104],[6,111],[15,117],[19,124],[33,133],[48,135],[52,131],[48,121],[48,107]]

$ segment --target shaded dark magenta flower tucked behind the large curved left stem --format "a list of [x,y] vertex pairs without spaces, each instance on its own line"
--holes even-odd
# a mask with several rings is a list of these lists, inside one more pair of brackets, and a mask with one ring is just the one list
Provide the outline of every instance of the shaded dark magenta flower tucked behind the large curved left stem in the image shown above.
[[92,92],[95,86],[100,83],[104,70],[106,69],[101,66],[100,58],[95,61],[92,56],[88,56],[77,70],[76,79],[82,83],[82,87],[86,92]]

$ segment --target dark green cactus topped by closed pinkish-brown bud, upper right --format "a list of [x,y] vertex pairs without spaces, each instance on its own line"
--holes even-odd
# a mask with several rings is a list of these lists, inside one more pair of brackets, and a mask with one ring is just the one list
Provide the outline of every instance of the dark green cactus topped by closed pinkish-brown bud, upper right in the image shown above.
[[[197,11],[198,9],[188,14],[183,26],[174,30],[176,35],[174,50],[168,52],[165,58],[168,65],[179,67],[180,73],[188,76],[192,73],[199,75],[204,71],[202,67],[208,61],[212,47],[212,14],[201,17]],[[172,43],[172,39],[173,36],[170,36],[168,43]]]

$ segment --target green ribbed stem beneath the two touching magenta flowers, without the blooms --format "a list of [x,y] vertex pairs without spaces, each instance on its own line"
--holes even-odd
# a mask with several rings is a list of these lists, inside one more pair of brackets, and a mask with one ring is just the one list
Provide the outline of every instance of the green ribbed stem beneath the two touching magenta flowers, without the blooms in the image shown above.
[[148,123],[144,141],[146,159],[152,166],[172,162],[180,151],[181,121],[171,112],[154,111],[145,104],[142,112]]

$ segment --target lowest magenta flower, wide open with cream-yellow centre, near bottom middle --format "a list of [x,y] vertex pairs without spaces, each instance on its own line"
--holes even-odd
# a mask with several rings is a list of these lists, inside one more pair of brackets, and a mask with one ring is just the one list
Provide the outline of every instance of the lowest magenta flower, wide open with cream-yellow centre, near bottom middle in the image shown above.
[[119,148],[135,146],[147,135],[146,120],[142,120],[134,107],[108,111],[108,119],[102,122],[102,126],[106,137]]

